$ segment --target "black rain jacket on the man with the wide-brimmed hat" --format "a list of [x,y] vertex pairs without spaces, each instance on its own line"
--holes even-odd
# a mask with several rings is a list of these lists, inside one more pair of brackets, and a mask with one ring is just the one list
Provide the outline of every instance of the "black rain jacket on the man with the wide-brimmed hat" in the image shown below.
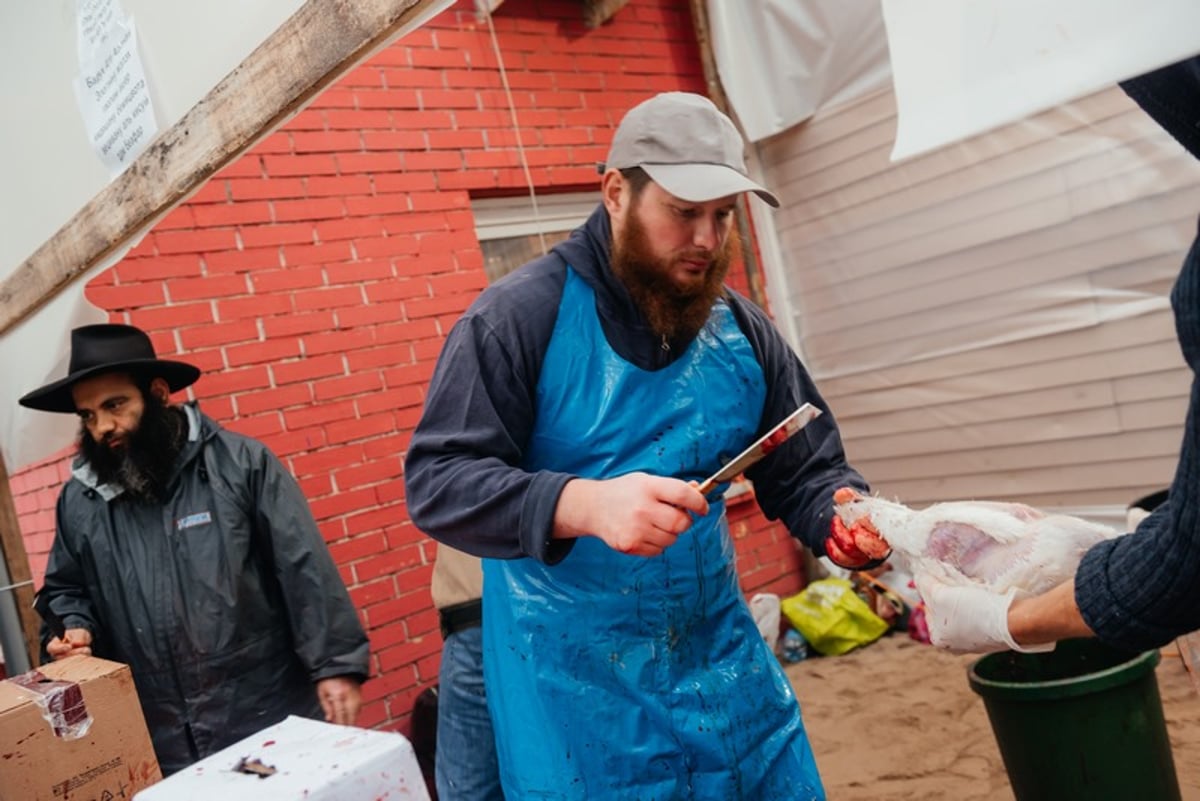
[[262,442],[184,411],[163,505],[74,465],[42,590],[132,669],[164,775],[288,715],[322,718],[313,682],[365,680],[370,650],[295,480]]

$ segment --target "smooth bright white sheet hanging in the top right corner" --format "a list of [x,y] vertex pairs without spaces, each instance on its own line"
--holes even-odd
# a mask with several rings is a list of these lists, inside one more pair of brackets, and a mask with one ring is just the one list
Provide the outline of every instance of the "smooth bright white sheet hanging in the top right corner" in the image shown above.
[[893,161],[1200,53],[1200,0],[883,0]]

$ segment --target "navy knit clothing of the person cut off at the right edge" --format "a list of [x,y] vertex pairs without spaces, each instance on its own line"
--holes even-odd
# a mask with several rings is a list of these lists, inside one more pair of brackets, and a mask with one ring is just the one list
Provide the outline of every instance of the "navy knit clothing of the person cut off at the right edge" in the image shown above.
[[[1122,88],[1200,158],[1200,60],[1164,67]],[[1200,372],[1200,236],[1171,291],[1175,330],[1193,374]],[[1075,574],[1075,602],[1104,642],[1159,648],[1200,628],[1200,383],[1193,378],[1180,463],[1168,501],[1128,536],[1103,542]]]

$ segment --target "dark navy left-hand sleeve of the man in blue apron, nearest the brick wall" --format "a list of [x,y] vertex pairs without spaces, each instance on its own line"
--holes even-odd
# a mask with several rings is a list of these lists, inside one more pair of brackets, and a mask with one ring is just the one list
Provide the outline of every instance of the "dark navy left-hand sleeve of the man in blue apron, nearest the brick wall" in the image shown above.
[[404,486],[413,523],[458,550],[556,562],[572,544],[551,537],[558,496],[572,476],[520,466],[560,285],[550,296],[540,289],[533,296],[511,293],[511,285],[485,294],[450,331],[438,359],[404,460]]

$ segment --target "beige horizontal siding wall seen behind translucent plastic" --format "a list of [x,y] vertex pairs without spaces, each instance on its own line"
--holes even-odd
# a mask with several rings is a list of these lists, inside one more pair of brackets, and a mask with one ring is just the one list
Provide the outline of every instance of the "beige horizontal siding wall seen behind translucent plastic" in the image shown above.
[[1200,168],[1120,90],[899,164],[882,92],[763,143],[785,330],[875,488],[1123,507],[1174,472]]

